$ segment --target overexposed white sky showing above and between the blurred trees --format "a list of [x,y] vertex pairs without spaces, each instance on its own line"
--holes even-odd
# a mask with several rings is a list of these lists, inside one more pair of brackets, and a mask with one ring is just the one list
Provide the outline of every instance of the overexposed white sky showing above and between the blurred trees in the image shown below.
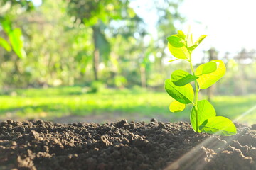
[[[150,2],[150,1],[148,1]],[[137,8],[140,6],[140,8]],[[149,30],[155,33],[154,11],[148,11],[150,3],[133,1],[132,7],[144,18]],[[256,49],[256,1],[255,0],[184,0],[179,12],[187,21],[179,30],[191,25],[192,33],[208,37],[198,46],[198,52],[215,47],[220,54],[239,52],[242,47]]]

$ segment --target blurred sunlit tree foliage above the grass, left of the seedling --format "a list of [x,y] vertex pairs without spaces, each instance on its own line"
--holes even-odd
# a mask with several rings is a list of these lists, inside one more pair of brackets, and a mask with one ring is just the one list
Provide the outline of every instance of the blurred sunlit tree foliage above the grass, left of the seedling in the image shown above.
[[[156,35],[147,31],[130,2],[44,0],[41,6],[32,6],[28,0],[1,1],[1,25],[9,27],[0,29],[0,85],[89,85],[97,69],[97,79],[107,86],[162,89],[170,69],[163,64],[165,36],[182,21],[180,1],[154,1],[152,8],[159,16]],[[18,34],[17,29],[22,35],[14,40],[22,40],[23,45],[17,45],[21,52],[15,52],[6,31]],[[26,57],[18,57],[22,51]]]

